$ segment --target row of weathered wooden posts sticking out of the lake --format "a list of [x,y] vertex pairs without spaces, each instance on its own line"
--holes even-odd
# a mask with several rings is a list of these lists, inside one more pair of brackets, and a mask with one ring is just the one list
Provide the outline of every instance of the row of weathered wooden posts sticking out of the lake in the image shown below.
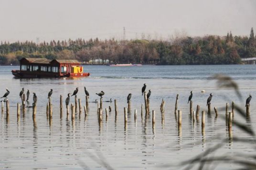
[[[89,104],[88,104],[88,96],[86,96],[86,102],[85,102],[85,106],[84,106],[84,111],[85,111],[85,116],[87,115],[88,112],[88,108],[89,108]],[[175,116],[178,113],[178,126],[181,127],[181,119],[182,119],[182,113],[181,110],[178,110],[178,100],[179,100],[179,94],[177,94],[176,96],[176,102],[175,102]],[[23,96],[21,97],[21,101],[22,101],[22,112],[23,114],[25,114],[25,94],[23,94]],[[145,116],[147,116],[149,114],[149,99],[147,98],[147,94],[146,92],[144,92],[144,101],[145,101]],[[62,95],[60,95],[60,117],[62,118],[62,113],[63,113],[63,97]],[[97,115],[98,115],[98,121],[101,122],[102,121],[102,113],[103,113],[103,108],[102,108],[102,98],[100,98],[100,101],[98,101],[97,103]],[[124,121],[125,121],[125,125],[128,122],[128,117],[127,117],[127,113],[130,113],[131,109],[131,101],[128,101],[128,110],[125,107],[124,108]],[[249,114],[249,104],[246,104],[246,114]],[[77,96],[75,95],[75,105],[71,104],[71,112],[72,112],[72,120],[75,119],[75,112],[77,112],[77,109],[79,108],[79,116],[82,113],[82,104],[81,104],[81,99],[78,99],[78,104],[77,104]],[[32,117],[33,119],[35,119],[36,116],[36,103],[32,104]],[[160,112],[161,112],[161,118],[162,118],[162,123],[164,122],[164,110],[165,110],[165,101],[162,100],[161,105],[160,105]],[[178,110],[178,112],[177,112]],[[2,101],[2,107],[1,107],[1,111],[2,113],[4,112],[4,104]],[[67,117],[69,115],[69,106],[66,105],[66,113],[67,113]],[[109,112],[112,111],[111,106],[109,106]],[[214,111],[215,111],[215,116],[218,116],[218,111],[217,108],[214,107]],[[190,116],[192,117],[192,122],[195,122],[196,120],[199,120],[199,112],[200,112],[200,106],[197,105],[196,107],[196,112],[193,111],[192,109],[192,101],[190,101]],[[7,113],[7,118],[9,117],[9,100],[6,99],[6,113]],[[106,113],[106,119],[107,119],[107,113],[108,113],[108,109],[105,108],[105,113]],[[208,104],[208,113],[211,113],[211,104]],[[232,128],[232,120],[234,118],[234,113],[235,113],[235,103],[232,102],[232,112],[228,112],[228,103],[226,103],[226,125],[229,127],[229,129]],[[117,100],[115,100],[115,121],[117,121]],[[143,104],[141,104],[141,117],[143,114]],[[20,116],[20,104],[17,104],[17,117],[19,118]],[[53,104],[51,103],[51,97],[49,98],[49,101],[46,105],[46,116],[49,119],[53,118]],[[134,111],[134,119],[137,119],[137,110]],[[155,124],[155,111],[152,111],[152,125]],[[204,130],[204,126],[205,126],[205,111],[202,111],[202,130]]]

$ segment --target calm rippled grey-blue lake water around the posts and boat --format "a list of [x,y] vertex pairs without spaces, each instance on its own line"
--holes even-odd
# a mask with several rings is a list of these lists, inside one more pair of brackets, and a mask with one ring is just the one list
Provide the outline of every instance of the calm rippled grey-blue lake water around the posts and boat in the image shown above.
[[[232,101],[245,110],[245,100],[252,95],[251,114],[244,119],[235,113],[235,121],[245,123],[256,130],[256,65],[218,65],[218,66],[84,66],[90,72],[87,78],[44,78],[15,79],[11,69],[18,66],[0,66],[0,95],[8,87],[10,95],[10,117],[6,121],[6,113],[0,121],[0,169],[179,169],[175,165],[193,158],[209,147],[228,139],[215,155],[233,157],[237,153],[255,153],[253,144],[234,142],[233,137],[251,139],[251,136],[233,126],[232,134],[227,131],[220,109]],[[233,89],[218,89],[215,80],[209,80],[214,74],[231,76],[239,85],[242,94],[240,100]],[[151,89],[150,113],[145,118],[145,110],[141,118],[140,106],[144,103],[141,95],[143,84],[146,91]],[[85,118],[83,111],[75,121],[66,118],[64,107],[60,118],[60,95],[63,101],[68,93],[79,87],[77,98],[85,105],[84,86],[90,93],[89,101],[99,99],[96,93],[104,91],[103,101],[110,98],[117,100],[118,115],[115,122],[114,102],[109,105],[112,112],[107,121],[103,114],[103,122],[98,123],[97,104],[89,103],[89,113]],[[25,116],[21,112],[17,121],[16,107],[21,103],[21,88],[30,89],[31,95],[27,105],[32,105],[32,92],[38,97],[36,122],[32,119],[32,108],[27,108]],[[47,95],[53,89],[53,119],[46,118]],[[205,93],[201,93],[205,90]],[[193,125],[189,115],[188,97],[193,91],[193,110],[200,105],[200,118]],[[132,93],[131,113],[124,128],[124,107],[127,107],[127,95]],[[205,133],[201,131],[201,111],[207,110],[206,100],[213,93],[212,113],[206,115]],[[178,110],[182,111],[182,130],[178,129],[174,108],[176,94],[179,94]],[[160,104],[165,100],[165,121],[161,121]],[[71,97],[74,104],[75,98]],[[64,105],[64,103],[63,103]],[[219,110],[215,118],[213,107]],[[134,110],[137,109],[137,121]],[[156,123],[152,126],[152,110],[156,111]],[[230,110],[230,108],[229,108]],[[105,112],[104,112],[105,113]],[[213,155],[213,154],[212,154]],[[212,168],[212,167],[210,167]],[[214,167],[215,168],[215,167]],[[234,164],[219,164],[216,169],[234,169]]]

